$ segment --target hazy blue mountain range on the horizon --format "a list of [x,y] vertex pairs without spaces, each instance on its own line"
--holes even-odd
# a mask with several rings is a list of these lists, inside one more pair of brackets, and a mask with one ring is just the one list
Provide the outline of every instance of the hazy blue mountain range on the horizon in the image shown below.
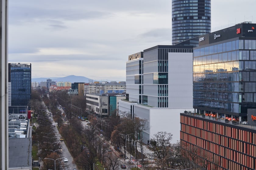
[[52,77],[52,78],[31,78],[31,82],[38,82],[40,83],[41,81],[46,81],[47,79],[52,79],[52,81],[68,81],[71,83],[89,83],[89,78],[87,77],[83,77],[83,76],[75,76],[75,75],[71,75],[71,76],[66,76],[66,77]]

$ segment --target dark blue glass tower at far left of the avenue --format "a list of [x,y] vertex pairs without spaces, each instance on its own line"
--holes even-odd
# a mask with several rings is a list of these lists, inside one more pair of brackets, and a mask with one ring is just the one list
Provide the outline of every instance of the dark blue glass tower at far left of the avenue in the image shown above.
[[11,105],[28,106],[31,99],[31,63],[9,63]]

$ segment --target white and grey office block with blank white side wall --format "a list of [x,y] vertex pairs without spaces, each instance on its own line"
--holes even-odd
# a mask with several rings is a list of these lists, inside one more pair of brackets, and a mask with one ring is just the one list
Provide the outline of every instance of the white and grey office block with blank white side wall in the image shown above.
[[176,143],[180,111],[193,110],[193,46],[158,45],[145,49],[143,58],[130,59],[126,100],[119,100],[119,115],[147,121],[147,130],[141,134],[144,143],[158,131],[172,133]]

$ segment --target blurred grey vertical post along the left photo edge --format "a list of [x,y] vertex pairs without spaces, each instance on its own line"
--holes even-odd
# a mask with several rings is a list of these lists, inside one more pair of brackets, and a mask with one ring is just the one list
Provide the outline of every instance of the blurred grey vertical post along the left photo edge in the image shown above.
[[1,48],[1,74],[0,74],[0,169],[9,168],[8,144],[8,1],[0,1],[0,48]]

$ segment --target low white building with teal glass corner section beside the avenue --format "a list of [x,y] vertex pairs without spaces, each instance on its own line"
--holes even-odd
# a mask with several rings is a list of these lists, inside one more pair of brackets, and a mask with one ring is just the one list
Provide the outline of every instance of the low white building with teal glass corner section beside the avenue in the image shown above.
[[124,93],[86,94],[86,108],[101,115],[116,115],[118,100],[124,98]]

